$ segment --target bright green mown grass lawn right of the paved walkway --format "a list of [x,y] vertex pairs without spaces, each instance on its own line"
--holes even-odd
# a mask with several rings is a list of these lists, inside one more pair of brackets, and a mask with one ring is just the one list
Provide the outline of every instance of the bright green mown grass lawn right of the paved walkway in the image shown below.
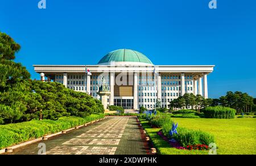
[[[216,138],[218,154],[256,154],[256,119],[191,119],[173,118],[179,126],[207,131]],[[208,154],[208,151],[177,150],[164,142],[156,134],[159,128],[150,128],[147,121],[141,119],[145,130],[160,154]]]

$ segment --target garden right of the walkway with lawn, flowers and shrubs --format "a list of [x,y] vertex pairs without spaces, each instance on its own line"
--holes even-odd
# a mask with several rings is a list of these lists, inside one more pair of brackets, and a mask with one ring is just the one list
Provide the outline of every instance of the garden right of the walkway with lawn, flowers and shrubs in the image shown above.
[[[180,113],[191,114],[192,110]],[[159,154],[256,154],[256,119],[235,118],[236,110],[208,107],[207,118],[174,118],[145,111],[139,116]]]

